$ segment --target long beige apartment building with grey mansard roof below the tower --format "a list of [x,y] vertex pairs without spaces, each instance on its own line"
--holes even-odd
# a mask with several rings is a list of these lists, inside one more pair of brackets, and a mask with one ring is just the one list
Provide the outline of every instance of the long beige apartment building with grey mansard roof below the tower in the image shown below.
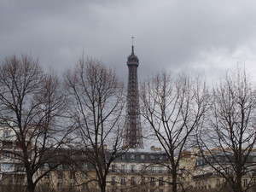
[[[61,149],[60,149],[61,150]],[[70,153],[69,149],[59,152]],[[86,158],[88,152],[72,150],[73,162],[60,164],[41,181],[40,188],[68,191],[99,191],[93,163]],[[108,153],[107,153],[108,154]],[[41,172],[57,162],[49,162]],[[166,155],[160,148],[129,149],[111,164],[107,177],[107,191],[160,191],[170,189]]]

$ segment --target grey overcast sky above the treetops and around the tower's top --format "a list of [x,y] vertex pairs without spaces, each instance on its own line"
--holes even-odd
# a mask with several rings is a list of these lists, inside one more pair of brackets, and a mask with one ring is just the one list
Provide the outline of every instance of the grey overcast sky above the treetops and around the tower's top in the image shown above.
[[132,36],[140,80],[162,69],[256,73],[255,0],[0,0],[1,62],[31,52],[61,73],[84,51],[126,80]]

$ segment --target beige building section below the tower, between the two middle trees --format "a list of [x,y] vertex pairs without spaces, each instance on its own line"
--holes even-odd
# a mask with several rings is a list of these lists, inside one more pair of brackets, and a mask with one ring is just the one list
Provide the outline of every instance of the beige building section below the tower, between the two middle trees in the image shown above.
[[160,191],[170,189],[168,160],[160,148],[129,149],[114,160],[108,175],[109,191]]

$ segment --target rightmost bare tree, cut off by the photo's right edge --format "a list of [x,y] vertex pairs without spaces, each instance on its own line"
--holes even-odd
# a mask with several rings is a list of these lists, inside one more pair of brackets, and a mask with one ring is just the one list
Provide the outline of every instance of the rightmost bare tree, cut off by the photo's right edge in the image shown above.
[[[234,192],[253,187],[255,116],[256,89],[246,70],[227,73],[212,90],[207,126],[198,131],[197,139],[205,164]],[[242,182],[245,175],[247,180]]]

